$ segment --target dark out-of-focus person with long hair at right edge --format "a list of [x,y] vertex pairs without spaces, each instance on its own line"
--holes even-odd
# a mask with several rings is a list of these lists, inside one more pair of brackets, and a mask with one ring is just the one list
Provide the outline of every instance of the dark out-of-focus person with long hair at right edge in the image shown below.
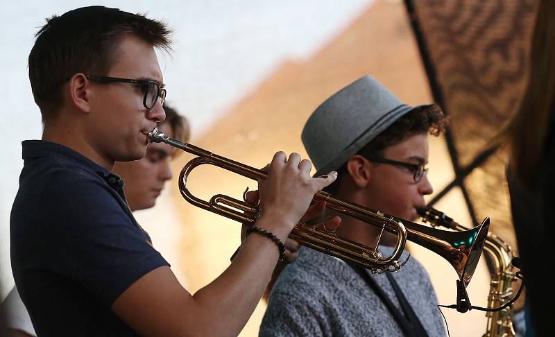
[[499,137],[509,146],[507,181],[526,284],[526,336],[553,333],[555,296],[548,277],[555,206],[555,4],[538,5],[527,87],[518,112]]

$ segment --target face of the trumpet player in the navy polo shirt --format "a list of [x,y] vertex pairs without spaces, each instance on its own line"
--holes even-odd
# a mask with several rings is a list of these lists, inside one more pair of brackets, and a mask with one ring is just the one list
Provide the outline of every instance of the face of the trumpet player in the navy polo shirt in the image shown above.
[[[105,76],[154,80],[162,84],[162,72],[153,46],[133,35],[123,37],[113,60]],[[137,84],[89,81],[89,85],[91,111],[86,123],[89,144],[107,162],[144,157],[148,131],[165,119],[160,101],[152,109],[146,109],[144,87]]]

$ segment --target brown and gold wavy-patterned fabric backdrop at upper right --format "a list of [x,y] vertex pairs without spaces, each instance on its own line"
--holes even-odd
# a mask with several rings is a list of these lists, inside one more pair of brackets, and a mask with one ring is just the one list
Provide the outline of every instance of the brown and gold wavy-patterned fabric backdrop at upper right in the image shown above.
[[486,148],[520,103],[535,0],[405,0],[434,100],[450,116],[455,180],[475,223],[516,249],[506,188],[506,156]]

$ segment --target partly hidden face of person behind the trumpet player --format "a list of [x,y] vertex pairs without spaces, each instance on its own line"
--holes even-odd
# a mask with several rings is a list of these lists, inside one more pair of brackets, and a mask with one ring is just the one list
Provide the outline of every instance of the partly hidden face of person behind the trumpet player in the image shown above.
[[[169,123],[158,127],[164,135],[173,135]],[[132,211],[147,209],[155,205],[156,198],[171,179],[171,147],[163,143],[151,143],[146,156],[133,162],[116,162],[114,173],[125,182],[126,198]]]

